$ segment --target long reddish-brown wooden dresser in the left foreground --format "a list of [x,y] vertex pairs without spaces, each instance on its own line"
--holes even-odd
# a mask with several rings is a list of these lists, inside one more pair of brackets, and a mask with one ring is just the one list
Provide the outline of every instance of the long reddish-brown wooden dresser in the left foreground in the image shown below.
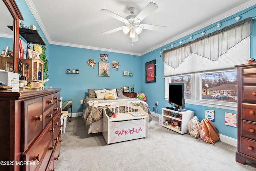
[[0,170],[54,170],[62,142],[60,101],[60,89],[0,90]]

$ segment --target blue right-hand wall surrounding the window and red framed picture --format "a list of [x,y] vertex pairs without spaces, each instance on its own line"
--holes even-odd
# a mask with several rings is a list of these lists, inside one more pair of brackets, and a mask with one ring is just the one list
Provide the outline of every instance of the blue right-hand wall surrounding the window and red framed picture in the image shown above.
[[[168,47],[167,49],[170,49],[171,44],[174,44],[174,47],[176,47],[176,46],[180,45],[179,44],[180,41],[182,41],[183,44],[186,42],[189,42],[189,41],[191,41],[189,38],[190,36],[193,36],[192,40],[194,40],[198,37],[201,37],[202,36],[201,33],[203,31],[205,31],[206,34],[208,34],[208,33],[214,32],[216,30],[220,30],[223,27],[226,27],[226,26],[229,26],[229,25],[235,23],[236,20],[234,18],[236,16],[240,16],[241,17],[240,20],[243,20],[248,17],[255,17],[255,15],[256,15],[256,6],[252,6],[246,10],[243,10],[241,12],[238,12],[237,14],[234,14],[228,18],[225,18],[224,20],[216,22],[210,26],[207,26],[206,28],[203,28],[201,30],[198,30],[197,32],[194,32],[194,33],[184,36],[183,38],[180,38],[174,42],[171,42],[170,44],[167,44],[166,46],[162,46],[161,48]],[[222,23],[222,26],[220,28],[218,28],[216,26],[218,23]],[[252,23],[253,23],[253,31],[252,31],[252,35],[250,36],[250,58],[256,58],[256,20],[253,20]],[[156,101],[158,101],[158,107],[157,107],[158,113],[162,112],[163,107],[170,106],[168,101],[166,101],[164,99],[164,78],[163,78],[164,64],[162,62],[162,58],[160,57],[161,48],[158,48],[157,50],[154,50],[148,54],[143,55],[142,60],[141,60],[142,61],[142,63],[141,63],[141,67],[142,67],[141,91],[144,92],[147,96],[147,103],[150,107],[150,110],[152,110],[152,107],[155,107],[155,103],[156,103]],[[156,59],[156,83],[146,84],[145,83],[145,62],[148,62],[148,61],[151,61],[154,59]],[[192,104],[187,104],[187,103],[186,103],[186,109],[193,110],[194,115],[196,115],[198,117],[199,121],[204,119],[204,113],[205,113],[206,109],[215,110],[214,125],[217,127],[219,132],[228,137],[237,139],[237,128],[227,126],[224,124],[225,112],[237,113],[237,111],[214,108],[214,107],[207,107],[207,106],[200,106],[200,105],[192,105]]]

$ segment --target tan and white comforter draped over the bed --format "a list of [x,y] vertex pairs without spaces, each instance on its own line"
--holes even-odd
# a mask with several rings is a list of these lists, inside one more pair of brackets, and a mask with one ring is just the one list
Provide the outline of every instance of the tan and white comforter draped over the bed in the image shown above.
[[102,110],[103,108],[107,108],[114,103],[126,101],[128,103],[132,103],[134,106],[140,106],[142,109],[148,113],[148,121],[152,121],[152,115],[148,108],[148,104],[145,101],[140,99],[134,99],[126,96],[121,96],[116,99],[97,99],[97,98],[89,98],[87,95],[84,99],[84,109],[83,109],[83,119],[85,121],[86,129],[90,128],[90,125],[93,122],[96,122],[102,118]]

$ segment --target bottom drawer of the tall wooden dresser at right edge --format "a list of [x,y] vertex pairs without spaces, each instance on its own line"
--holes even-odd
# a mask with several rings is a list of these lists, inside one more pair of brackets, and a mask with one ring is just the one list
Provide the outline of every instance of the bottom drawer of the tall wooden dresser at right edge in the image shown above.
[[241,137],[241,153],[256,158],[256,141]]

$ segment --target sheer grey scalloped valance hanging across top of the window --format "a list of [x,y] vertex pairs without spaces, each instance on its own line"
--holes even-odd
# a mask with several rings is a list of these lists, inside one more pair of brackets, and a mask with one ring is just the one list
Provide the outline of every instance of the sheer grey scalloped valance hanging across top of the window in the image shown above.
[[[211,61],[217,61],[220,56],[223,56],[230,48],[248,38],[252,34],[252,18],[246,18],[235,24],[212,32],[206,36],[197,38],[192,42],[180,45],[170,50],[163,52],[162,60],[166,64],[165,67],[170,66],[172,69],[179,68],[180,64],[186,58],[192,58],[191,54],[196,54]],[[250,40],[250,39],[249,39]],[[238,56],[237,58],[240,58]],[[248,58],[246,56],[245,58]],[[235,60],[235,59],[232,59]],[[204,71],[202,69],[201,71]],[[182,74],[182,73],[180,73]],[[172,75],[164,74],[164,77]]]

